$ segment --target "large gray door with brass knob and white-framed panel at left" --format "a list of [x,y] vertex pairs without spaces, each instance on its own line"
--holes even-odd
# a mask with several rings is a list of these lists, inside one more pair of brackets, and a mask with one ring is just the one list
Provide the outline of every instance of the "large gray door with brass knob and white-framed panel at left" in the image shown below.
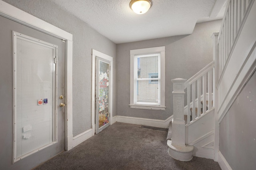
[[66,43],[2,16],[0,23],[0,167],[30,169],[65,148]]

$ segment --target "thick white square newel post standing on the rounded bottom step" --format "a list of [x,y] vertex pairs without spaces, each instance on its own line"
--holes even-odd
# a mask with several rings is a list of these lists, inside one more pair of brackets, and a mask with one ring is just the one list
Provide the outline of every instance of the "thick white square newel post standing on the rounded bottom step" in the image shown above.
[[172,120],[172,144],[185,145],[185,121],[184,121],[184,82],[186,79],[176,78],[173,82],[173,120]]

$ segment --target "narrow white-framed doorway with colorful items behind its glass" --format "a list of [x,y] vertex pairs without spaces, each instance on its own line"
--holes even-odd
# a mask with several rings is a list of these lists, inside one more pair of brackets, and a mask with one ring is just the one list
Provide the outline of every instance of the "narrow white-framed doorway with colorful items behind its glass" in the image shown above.
[[92,50],[92,129],[99,133],[112,123],[113,58]]

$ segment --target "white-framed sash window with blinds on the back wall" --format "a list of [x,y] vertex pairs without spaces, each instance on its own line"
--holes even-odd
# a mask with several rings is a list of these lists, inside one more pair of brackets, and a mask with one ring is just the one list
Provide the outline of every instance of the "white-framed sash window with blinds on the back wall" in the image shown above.
[[130,107],[165,110],[165,47],[130,50]]

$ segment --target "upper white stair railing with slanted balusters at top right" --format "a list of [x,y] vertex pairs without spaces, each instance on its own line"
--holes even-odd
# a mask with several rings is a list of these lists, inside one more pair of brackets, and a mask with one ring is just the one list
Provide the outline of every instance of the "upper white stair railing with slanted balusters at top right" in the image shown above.
[[[226,69],[230,56],[236,45],[237,38],[246,21],[254,0],[228,0],[227,8],[220,27],[218,36],[219,44],[219,62],[218,80],[222,79],[223,72]],[[218,86],[218,85],[217,85]]]

